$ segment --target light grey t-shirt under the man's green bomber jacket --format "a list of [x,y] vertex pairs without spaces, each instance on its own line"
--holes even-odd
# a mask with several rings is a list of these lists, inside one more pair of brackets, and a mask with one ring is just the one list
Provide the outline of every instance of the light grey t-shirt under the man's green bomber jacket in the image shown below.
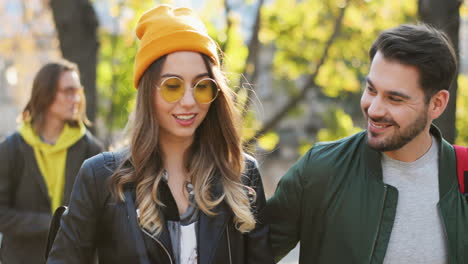
[[446,235],[439,202],[438,144],[414,162],[382,155],[383,180],[398,189],[398,205],[384,264],[445,264]]

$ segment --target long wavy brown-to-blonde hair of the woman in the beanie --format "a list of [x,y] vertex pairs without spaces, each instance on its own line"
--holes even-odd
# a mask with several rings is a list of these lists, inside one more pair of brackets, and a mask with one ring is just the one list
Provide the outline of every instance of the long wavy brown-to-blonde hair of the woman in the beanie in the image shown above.
[[[201,55],[220,92],[195,132],[194,141],[184,156],[184,166],[194,186],[196,206],[206,215],[213,216],[213,208],[226,201],[234,213],[236,228],[245,233],[255,227],[247,195],[247,192],[255,195],[255,191],[241,181],[244,155],[238,131],[240,116],[226,77],[208,56]],[[110,178],[111,192],[120,201],[125,200],[125,186],[135,186],[140,225],[152,234],[159,234],[162,230],[160,215],[161,208],[165,206],[158,193],[164,170],[164,153],[158,144],[159,125],[154,105],[155,84],[160,79],[165,59],[163,56],[153,62],[140,79],[135,111],[130,118],[130,149]],[[223,186],[224,192],[220,197],[213,195],[215,178]]]

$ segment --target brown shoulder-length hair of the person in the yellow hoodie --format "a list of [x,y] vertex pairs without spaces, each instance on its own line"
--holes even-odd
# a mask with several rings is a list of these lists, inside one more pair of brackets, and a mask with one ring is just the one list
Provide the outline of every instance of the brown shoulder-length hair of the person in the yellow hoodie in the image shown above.
[[[23,122],[30,121],[36,133],[40,133],[45,125],[46,114],[55,100],[58,91],[58,82],[64,72],[76,72],[80,75],[76,64],[65,59],[50,62],[42,66],[34,77],[31,98],[23,109],[21,119]],[[76,120],[68,120],[67,123],[72,127],[77,127],[79,122],[91,125],[86,116],[86,98],[81,94],[81,100],[78,106],[79,116]]]

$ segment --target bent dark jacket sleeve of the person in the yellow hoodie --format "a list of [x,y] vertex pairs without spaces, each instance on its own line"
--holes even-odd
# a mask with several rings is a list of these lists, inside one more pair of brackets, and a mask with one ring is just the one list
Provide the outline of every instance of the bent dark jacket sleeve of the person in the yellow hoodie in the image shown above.
[[46,235],[49,230],[50,213],[24,211],[14,208],[15,177],[21,169],[15,166],[22,159],[19,146],[10,135],[0,143],[0,232],[16,237]]

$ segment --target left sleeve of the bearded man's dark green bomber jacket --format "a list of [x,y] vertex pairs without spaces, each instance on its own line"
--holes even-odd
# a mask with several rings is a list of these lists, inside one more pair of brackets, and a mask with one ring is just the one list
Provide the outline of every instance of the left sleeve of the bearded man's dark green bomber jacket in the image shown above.
[[300,239],[301,204],[304,182],[303,166],[307,155],[294,164],[281,178],[266,208],[267,223],[275,261],[291,251]]

